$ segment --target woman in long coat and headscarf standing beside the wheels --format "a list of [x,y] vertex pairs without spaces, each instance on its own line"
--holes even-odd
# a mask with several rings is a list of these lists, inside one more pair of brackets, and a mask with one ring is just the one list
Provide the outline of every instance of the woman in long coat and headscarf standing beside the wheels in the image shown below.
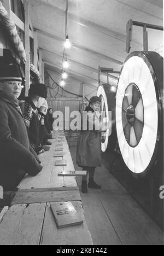
[[[77,146],[77,164],[89,173],[89,188],[101,189],[94,181],[95,169],[101,166],[101,130],[100,127],[100,105],[99,97],[94,96],[86,107],[87,129],[81,129]],[[84,124],[84,115],[83,115]],[[92,127],[92,129],[90,129]],[[87,193],[87,176],[83,176],[81,184],[82,193]]]

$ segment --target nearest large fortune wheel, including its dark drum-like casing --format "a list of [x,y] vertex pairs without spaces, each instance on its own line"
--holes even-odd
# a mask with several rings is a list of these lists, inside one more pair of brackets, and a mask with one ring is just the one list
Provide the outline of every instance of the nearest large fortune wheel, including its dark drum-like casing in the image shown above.
[[122,66],[116,92],[116,132],[122,159],[132,173],[153,166],[162,137],[163,58],[134,52]]

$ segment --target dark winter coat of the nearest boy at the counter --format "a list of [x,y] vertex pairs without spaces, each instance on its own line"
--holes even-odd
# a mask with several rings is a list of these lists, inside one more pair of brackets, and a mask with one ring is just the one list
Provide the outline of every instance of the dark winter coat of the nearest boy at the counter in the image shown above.
[[36,176],[41,170],[18,101],[0,92],[0,185],[13,190],[26,173]]

